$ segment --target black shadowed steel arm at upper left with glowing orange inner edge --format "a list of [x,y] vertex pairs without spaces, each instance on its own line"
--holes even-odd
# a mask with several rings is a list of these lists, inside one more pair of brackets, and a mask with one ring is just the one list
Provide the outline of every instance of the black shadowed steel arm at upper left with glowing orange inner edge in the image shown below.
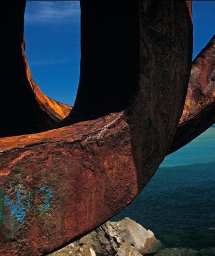
[[25,1],[7,2],[1,14],[0,137],[51,129],[71,109],[43,94],[31,76],[24,51],[24,8]]

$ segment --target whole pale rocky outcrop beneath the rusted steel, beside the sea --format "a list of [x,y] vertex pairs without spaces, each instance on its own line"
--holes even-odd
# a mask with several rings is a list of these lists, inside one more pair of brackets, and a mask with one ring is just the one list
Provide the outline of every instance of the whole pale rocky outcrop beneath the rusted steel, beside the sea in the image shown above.
[[94,251],[97,255],[140,256],[154,254],[162,248],[162,243],[155,238],[151,230],[146,230],[130,218],[124,218],[119,222],[106,222],[50,256],[62,256],[66,252],[85,256],[89,251]]

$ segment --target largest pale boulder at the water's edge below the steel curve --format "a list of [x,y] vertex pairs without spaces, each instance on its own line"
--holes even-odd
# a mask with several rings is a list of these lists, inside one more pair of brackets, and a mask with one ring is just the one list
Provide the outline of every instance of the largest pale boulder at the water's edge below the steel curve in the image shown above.
[[155,238],[151,230],[146,230],[130,218],[119,222],[106,222],[87,236],[95,251],[112,255],[124,243],[129,243],[142,254],[156,252],[162,247],[162,243]]

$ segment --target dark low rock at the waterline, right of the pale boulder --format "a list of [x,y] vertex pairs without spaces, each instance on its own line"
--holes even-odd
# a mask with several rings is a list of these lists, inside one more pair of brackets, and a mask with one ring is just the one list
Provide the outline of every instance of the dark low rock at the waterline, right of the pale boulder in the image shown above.
[[155,256],[199,256],[199,253],[187,248],[165,248],[156,253]]

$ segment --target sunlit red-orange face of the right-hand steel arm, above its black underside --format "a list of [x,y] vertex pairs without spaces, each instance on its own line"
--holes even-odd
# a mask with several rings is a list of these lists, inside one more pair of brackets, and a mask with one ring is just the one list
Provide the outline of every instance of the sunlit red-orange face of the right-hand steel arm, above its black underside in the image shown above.
[[189,87],[180,124],[197,116],[210,104],[215,103],[215,35],[193,60]]

